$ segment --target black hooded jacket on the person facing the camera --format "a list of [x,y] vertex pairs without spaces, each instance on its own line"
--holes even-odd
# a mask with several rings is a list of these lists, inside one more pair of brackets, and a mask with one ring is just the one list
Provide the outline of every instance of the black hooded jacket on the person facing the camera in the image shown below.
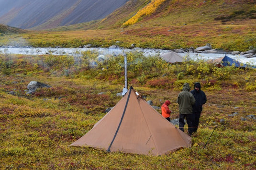
[[[195,87],[199,87],[199,90],[195,90]],[[192,106],[193,113],[200,113],[203,109],[202,105],[205,104],[207,101],[205,93],[201,90],[201,84],[199,82],[196,82],[194,84],[194,90],[191,90],[190,92],[196,99],[195,104]]]

